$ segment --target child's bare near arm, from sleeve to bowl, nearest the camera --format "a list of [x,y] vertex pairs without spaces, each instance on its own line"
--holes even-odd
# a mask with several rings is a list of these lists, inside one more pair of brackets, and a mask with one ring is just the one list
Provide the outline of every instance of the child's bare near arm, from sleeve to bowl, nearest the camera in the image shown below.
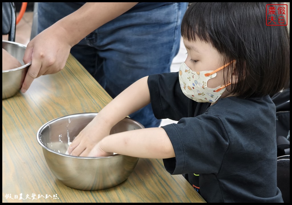
[[175,157],[171,141],[161,127],[131,130],[106,136],[93,148],[90,156],[95,156],[96,150],[100,149],[105,153],[140,158]]

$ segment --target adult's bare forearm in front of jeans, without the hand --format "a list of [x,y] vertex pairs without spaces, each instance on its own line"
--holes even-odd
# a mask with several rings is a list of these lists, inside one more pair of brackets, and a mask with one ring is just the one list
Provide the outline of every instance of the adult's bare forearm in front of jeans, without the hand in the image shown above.
[[64,29],[70,45],[76,45],[95,29],[113,20],[138,2],[87,2],[54,24]]

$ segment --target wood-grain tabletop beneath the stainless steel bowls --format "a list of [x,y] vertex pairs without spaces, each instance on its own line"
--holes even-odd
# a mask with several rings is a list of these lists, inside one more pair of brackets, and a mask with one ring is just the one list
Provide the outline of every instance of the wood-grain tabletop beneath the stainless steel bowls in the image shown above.
[[2,100],[2,202],[205,202],[161,159],[140,158],[126,181],[106,190],[77,190],[55,178],[36,140],[39,128],[65,115],[99,112],[111,100],[72,55],[62,71]]

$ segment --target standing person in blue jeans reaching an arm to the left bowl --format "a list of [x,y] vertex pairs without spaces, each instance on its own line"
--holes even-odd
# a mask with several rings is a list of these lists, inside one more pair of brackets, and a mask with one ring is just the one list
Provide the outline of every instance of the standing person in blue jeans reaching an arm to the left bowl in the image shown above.
[[[69,51],[112,98],[143,76],[170,72],[187,5],[39,2],[39,34],[27,45],[24,62],[32,61],[32,65],[22,92],[34,78],[63,69]],[[161,122],[154,117],[151,105],[130,117],[145,127],[158,127]]]

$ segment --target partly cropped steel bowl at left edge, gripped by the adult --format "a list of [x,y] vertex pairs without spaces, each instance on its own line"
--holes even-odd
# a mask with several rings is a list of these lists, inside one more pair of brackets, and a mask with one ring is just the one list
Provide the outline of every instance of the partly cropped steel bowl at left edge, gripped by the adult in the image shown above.
[[2,71],[2,100],[17,94],[22,86],[31,62],[25,64],[22,60],[26,46],[21,43],[2,40],[2,48],[15,57],[22,66]]

